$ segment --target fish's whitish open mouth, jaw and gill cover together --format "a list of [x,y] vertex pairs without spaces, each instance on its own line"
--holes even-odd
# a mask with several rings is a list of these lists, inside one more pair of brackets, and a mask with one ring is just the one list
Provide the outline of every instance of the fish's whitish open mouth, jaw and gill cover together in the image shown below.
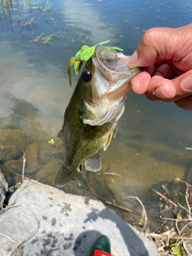
[[95,66],[94,87],[97,98],[88,102],[87,109],[92,113],[89,119],[82,119],[90,125],[117,122],[124,111],[127,95],[131,90],[131,80],[141,72],[140,68],[129,70],[127,61],[130,56],[116,53],[97,45],[92,61]]

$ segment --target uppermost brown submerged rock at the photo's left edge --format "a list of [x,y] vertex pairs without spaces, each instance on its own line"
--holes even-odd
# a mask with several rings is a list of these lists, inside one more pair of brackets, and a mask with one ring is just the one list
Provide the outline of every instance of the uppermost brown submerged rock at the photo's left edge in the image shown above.
[[3,152],[0,156],[1,161],[8,161],[19,156],[27,147],[25,134],[16,129],[1,129],[0,143],[3,146]]

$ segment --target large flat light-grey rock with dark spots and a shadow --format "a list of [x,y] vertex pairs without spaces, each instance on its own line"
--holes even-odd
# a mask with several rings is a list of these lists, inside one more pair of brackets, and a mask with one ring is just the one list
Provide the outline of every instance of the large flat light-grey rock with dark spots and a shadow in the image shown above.
[[[101,202],[90,200],[86,205],[81,196],[34,183],[20,193],[23,186],[11,196],[9,205],[18,195],[15,207],[0,218],[1,233],[21,241],[19,256],[88,256],[101,234],[110,238],[112,249],[119,256],[157,256],[150,240]],[[1,256],[7,256],[13,246],[8,237],[0,236]]]

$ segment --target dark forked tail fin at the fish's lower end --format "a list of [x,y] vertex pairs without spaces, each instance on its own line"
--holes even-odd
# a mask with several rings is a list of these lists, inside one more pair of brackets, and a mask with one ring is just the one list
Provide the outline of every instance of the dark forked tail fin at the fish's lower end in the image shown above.
[[75,180],[83,187],[88,188],[86,180],[83,178],[80,170],[78,172],[71,172],[64,164],[61,166],[57,177],[55,179],[55,186],[62,187]]

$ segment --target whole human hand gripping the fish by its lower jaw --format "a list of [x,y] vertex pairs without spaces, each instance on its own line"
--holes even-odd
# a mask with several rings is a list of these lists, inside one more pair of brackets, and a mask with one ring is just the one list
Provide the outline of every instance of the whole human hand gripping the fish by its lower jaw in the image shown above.
[[192,109],[192,23],[147,30],[127,66],[145,67],[131,81],[135,93]]

